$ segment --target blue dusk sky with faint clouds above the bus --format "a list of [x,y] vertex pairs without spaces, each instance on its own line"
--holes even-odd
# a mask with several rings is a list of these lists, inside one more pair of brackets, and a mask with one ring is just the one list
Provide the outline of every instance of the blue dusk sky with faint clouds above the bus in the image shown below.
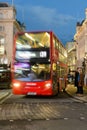
[[63,44],[72,41],[76,23],[85,19],[87,0],[0,0],[14,5],[27,31],[52,30]]

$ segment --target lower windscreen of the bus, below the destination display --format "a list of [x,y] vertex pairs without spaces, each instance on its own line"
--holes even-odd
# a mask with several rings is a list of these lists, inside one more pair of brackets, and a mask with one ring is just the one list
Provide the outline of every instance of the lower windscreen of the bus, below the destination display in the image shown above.
[[21,81],[42,81],[50,78],[50,64],[15,63],[15,79]]

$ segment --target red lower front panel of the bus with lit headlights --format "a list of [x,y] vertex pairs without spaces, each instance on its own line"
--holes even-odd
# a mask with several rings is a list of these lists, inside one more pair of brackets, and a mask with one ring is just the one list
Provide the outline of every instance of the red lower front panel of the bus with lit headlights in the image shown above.
[[[19,83],[20,86],[14,86],[14,83]],[[53,95],[52,81],[44,82],[20,82],[17,80],[12,81],[13,94],[23,95]]]

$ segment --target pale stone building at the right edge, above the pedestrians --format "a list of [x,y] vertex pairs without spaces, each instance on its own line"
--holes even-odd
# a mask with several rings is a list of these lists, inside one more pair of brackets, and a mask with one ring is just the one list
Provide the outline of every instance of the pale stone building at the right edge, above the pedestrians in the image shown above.
[[81,23],[77,22],[74,40],[77,43],[77,67],[82,67],[83,69],[85,69],[85,73],[87,73],[87,9],[85,10],[85,15],[86,18]]

